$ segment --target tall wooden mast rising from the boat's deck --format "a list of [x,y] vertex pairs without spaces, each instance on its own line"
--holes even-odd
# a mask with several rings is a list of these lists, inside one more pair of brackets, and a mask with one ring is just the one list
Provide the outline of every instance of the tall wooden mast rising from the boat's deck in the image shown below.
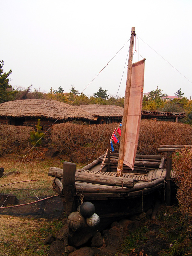
[[128,60],[128,69],[127,69],[127,82],[126,82],[126,89],[125,89],[121,140],[120,140],[120,147],[119,147],[119,160],[117,165],[117,176],[120,176],[120,177],[122,176],[123,160],[124,160],[124,144],[125,144],[126,122],[127,122],[128,107],[129,107],[130,88],[131,88],[134,36],[135,36],[135,27],[132,27],[131,37],[130,37],[130,46],[129,46],[129,60]]

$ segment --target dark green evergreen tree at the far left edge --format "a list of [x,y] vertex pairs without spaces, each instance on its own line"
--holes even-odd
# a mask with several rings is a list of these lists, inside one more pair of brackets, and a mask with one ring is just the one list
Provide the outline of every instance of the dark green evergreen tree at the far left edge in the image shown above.
[[12,73],[12,70],[10,69],[7,73],[3,72],[3,64],[3,60],[0,61],[0,103],[15,100],[14,95],[17,93],[12,88],[12,85],[9,84],[9,75]]

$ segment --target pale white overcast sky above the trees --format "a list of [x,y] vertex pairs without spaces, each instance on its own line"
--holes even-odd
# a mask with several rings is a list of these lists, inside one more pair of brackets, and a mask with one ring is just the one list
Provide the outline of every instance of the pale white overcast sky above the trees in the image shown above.
[[[15,87],[48,92],[71,85],[82,92],[129,40],[136,27],[136,50],[145,61],[144,93],[158,86],[192,96],[191,0],[1,0],[0,60],[12,69]],[[141,39],[158,52],[182,76]],[[84,93],[101,86],[115,96],[129,43]],[[142,58],[135,52],[134,62]],[[127,68],[126,68],[127,71]],[[124,96],[126,72],[118,95]]]

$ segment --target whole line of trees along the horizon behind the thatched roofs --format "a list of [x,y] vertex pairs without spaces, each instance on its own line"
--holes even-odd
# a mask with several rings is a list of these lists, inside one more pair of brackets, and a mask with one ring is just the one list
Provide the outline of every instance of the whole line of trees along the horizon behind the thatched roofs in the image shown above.
[[[107,90],[99,87],[98,91],[92,96],[88,97],[83,92],[79,93],[74,85],[71,85],[70,92],[64,93],[64,89],[60,86],[58,89],[50,88],[48,93],[40,92],[34,89],[32,92],[30,85],[27,89],[15,89],[10,85],[10,74],[12,70],[7,73],[3,71],[3,61],[0,61],[0,103],[22,100],[22,99],[53,99],[58,100],[74,106],[84,104],[106,104],[124,106],[124,97],[114,97],[109,95]],[[192,101],[184,97],[181,88],[175,93],[177,98],[173,100],[166,99],[166,95],[157,86],[148,95],[143,96],[142,110],[151,111],[165,111],[165,112],[185,112],[186,118],[183,120],[188,124],[192,124]]]

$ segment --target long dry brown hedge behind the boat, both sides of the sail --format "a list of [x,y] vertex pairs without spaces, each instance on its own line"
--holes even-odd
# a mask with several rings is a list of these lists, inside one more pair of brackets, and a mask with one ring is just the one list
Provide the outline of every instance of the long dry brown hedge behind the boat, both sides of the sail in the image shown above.
[[[52,130],[52,142],[64,154],[78,152],[92,158],[102,155],[118,123],[108,125],[78,125],[72,123],[55,124]],[[120,137],[117,133],[117,138]],[[100,141],[99,141],[100,139]],[[192,126],[188,124],[142,120],[140,126],[138,154],[157,154],[160,144],[192,144]],[[119,143],[114,144],[116,152]]]

